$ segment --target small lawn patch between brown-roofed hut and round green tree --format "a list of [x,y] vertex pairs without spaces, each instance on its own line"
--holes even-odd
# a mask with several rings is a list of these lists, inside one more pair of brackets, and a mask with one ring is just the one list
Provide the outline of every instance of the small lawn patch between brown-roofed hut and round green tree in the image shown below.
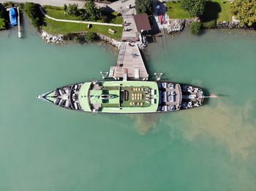
[[167,15],[172,18],[189,18],[189,14],[181,9],[181,4],[178,2],[167,1],[165,4]]

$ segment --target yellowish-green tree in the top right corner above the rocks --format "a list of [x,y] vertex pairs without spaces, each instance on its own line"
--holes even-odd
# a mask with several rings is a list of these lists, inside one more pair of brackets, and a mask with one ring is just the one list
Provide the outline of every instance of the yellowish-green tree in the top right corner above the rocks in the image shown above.
[[256,24],[256,0],[236,0],[231,5],[231,12],[236,15],[242,25]]

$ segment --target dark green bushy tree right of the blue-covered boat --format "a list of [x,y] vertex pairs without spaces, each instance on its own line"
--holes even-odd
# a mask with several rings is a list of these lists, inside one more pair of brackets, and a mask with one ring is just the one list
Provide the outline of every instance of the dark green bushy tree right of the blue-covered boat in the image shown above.
[[29,17],[31,24],[39,30],[43,23],[43,15],[39,10],[39,5],[26,2],[24,4],[24,12]]

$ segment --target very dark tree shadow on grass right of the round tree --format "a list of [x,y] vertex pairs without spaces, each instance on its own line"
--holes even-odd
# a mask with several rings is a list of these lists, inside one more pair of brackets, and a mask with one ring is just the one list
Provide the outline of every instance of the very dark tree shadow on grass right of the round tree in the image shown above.
[[207,1],[206,7],[201,16],[201,20],[203,22],[208,22],[210,20],[217,20],[219,17],[219,12],[222,11],[222,7],[220,7],[219,3],[213,1]]

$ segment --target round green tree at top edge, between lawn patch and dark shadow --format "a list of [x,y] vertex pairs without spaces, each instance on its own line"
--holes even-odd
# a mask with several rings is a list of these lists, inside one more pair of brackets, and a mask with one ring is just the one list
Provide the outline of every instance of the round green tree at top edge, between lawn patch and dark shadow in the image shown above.
[[181,8],[189,13],[191,17],[203,15],[208,0],[181,0]]

